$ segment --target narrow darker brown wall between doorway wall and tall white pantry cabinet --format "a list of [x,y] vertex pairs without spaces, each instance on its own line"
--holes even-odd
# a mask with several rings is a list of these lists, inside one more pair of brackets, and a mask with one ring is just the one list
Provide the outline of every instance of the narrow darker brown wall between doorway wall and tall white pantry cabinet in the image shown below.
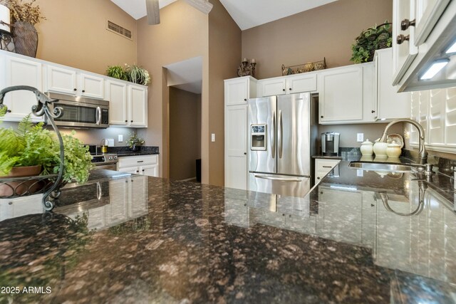
[[[209,184],[224,185],[224,79],[237,77],[241,30],[218,0],[209,14]],[[210,137],[209,137],[210,138]]]

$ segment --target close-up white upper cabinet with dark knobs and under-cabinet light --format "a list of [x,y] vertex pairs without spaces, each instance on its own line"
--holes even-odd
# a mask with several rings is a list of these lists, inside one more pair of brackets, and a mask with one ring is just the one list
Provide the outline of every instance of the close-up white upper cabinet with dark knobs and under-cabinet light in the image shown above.
[[[446,51],[456,41],[456,1],[393,1],[393,85],[417,91],[456,86],[454,53]],[[436,61],[449,61],[430,79],[421,77]]]

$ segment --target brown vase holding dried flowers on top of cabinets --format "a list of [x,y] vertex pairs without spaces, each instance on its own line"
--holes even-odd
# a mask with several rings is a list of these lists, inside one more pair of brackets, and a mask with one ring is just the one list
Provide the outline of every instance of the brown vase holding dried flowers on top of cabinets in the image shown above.
[[27,21],[16,21],[12,27],[16,53],[36,57],[38,33],[35,26]]

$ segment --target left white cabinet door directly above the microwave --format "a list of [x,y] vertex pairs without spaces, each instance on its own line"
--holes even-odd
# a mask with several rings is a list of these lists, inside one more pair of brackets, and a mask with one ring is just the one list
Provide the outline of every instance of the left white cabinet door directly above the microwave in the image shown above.
[[47,91],[76,95],[76,70],[47,65],[44,81]]

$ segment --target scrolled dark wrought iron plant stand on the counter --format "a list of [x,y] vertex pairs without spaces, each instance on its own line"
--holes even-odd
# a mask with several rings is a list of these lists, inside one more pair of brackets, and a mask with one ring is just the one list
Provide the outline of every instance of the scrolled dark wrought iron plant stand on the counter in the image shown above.
[[[43,194],[43,206],[46,211],[51,211],[55,206],[54,200],[60,196],[60,187],[63,186],[63,140],[58,127],[54,122],[54,118],[61,117],[63,115],[63,109],[59,107],[53,108],[51,112],[49,105],[58,102],[48,98],[45,94],[41,93],[38,89],[27,86],[27,85],[16,85],[0,90],[0,109],[4,108],[3,100],[6,93],[15,90],[29,90],[36,95],[37,104],[31,107],[31,112],[36,116],[46,117],[48,125],[53,127],[58,137],[60,144],[60,166],[58,168],[58,174],[39,175],[33,177],[0,177],[0,186],[7,187],[11,195],[0,196],[0,199],[13,199],[20,196],[28,196],[32,194]],[[37,185],[43,185],[42,189],[33,190]],[[24,188],[25,191],[24,191]],[[19,191],[20,189],[20,191]]]

